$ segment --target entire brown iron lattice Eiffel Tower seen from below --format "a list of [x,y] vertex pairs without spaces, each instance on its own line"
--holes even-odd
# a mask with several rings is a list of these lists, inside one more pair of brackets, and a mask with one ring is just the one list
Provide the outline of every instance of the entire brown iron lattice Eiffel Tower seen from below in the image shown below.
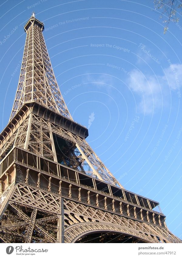
[[54,76],[33,13],[0,135],[1,243],[181,243],[158,202],[125,190],[86,142]]

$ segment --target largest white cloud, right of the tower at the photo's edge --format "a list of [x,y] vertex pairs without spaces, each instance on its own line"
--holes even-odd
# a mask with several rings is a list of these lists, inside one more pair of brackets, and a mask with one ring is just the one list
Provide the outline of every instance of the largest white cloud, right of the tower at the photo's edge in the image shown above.
[[138,109],[140,112],[149,114],[157,108],[167,104],[170,91],[176,91],[180,97],[180,87],[182,81],[182,65],[171,64],[164,69],[164,74],[144,75],[134,69],[130,72],[128,86],[137,95],[140,95]]

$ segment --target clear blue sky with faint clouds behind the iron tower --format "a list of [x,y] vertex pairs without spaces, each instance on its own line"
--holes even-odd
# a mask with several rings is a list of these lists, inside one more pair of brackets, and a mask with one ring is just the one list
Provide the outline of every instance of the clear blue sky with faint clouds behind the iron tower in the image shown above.
[[44,22],[69,111],[89,127],[87,141],[127,190],[160,202],[181,237],[182,19],[164,35],[153,1],[1,1],[1,131],[32,11]]

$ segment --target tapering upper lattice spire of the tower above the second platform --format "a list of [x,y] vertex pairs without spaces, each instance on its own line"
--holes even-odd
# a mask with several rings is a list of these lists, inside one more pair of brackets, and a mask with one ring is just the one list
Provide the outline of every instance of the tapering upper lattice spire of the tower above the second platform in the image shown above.
[[35,12],[26,23],[26,41],[18,89],[10,120],[25,103],[36,102],[72,120],[59,90],[42,34],[44,24]]

